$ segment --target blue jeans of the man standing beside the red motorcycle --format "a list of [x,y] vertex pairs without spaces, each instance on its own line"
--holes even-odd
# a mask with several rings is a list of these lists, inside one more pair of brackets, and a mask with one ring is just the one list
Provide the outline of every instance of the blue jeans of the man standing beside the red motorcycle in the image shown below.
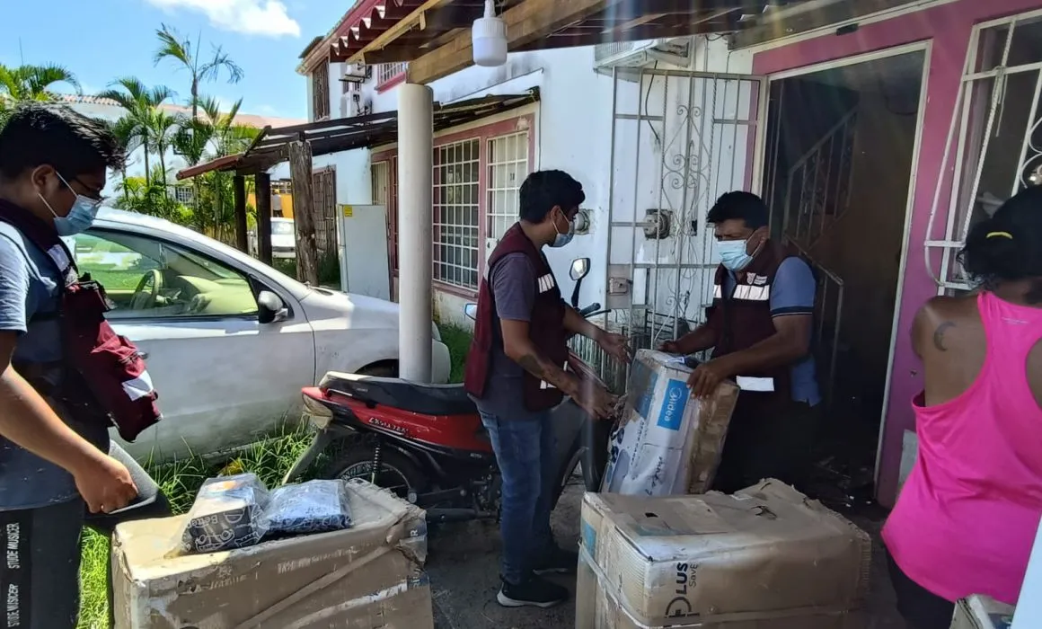
[[557,439],[550,412],[506,419],[481,412],[502,475],[502,578],[518,584],[553,547],[550,502],[557,471]]

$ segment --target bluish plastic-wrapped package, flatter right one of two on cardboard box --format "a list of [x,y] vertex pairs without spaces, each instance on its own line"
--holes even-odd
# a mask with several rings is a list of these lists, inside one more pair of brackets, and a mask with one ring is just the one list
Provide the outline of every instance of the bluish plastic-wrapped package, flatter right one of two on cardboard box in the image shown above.
[[327,533],[351,527],[344,481],[307,481],[272,490],[262,516],[268,535]]

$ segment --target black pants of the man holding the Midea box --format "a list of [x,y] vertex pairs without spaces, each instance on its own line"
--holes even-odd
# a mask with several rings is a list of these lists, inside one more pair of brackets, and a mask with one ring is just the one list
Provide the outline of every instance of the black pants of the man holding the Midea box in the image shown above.
[[774,478],[799,486],[811,465],[820,407],[740,393],[713,489],[733,493]]

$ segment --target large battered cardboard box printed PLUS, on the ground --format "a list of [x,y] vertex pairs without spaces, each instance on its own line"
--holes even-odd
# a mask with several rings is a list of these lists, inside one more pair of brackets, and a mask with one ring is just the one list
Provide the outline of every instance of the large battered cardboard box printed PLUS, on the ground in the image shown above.
[[860,627],[871,539],[767,480],[735,495],[587,493],[576,629]]

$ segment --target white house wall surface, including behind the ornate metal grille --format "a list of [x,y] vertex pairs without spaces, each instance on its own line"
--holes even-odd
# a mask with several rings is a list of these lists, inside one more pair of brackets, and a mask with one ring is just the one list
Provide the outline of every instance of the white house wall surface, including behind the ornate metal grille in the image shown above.
[[[722,40],[699,42],[693,69],[730,73],[747,73],[751,70],[751,54],[730,53]],[[339,76],[342,73],[342,65],[330,67],[330,111],[333,116],[340,114],[343,90]],[[712,111],[717,119],[750,117],[752,99],[748,84],[740,88],[737,81],[729,81],[726,88],[718,83],[715,89],[710,89],[706,86],[711,83],[705,81],[692,83],[685,79],[683,83],[686,87],[678,89],[680,82],[673,80],[667,87],[664,79],[646,81],[642,86],[620,81],[617,97],[619,113],[636,114],[640,105],[651,114],[661,114],[665,110],[667,120],[664,124],[654,123],[658,125],[659,140],[645,126],[641,130],[639,142],[636,121],[619,121],[615,124],[614,189],[611,186],[614,81],[612,76],[595,72],[593,47],[512,53],[502,67],[471,67],[435,81],[431,88],[435,100],[442,103],[490,94],[520,94],[531,88],[539,88],[540,103],[535,116],[536,154],[530,168],[557,168],[572,174],[584,186],[587,200],[582,208],[589,211],[591,218],[589,234],[576,236],[567,247],[548,250],[547,257],[566,296],[570,295],[572,286],[568,279],[570,261],[579,257],[591,259],[591,272],[584,282],[579,299],[580,306],[586,306],[593,301],[607,301],[605,282],[609,275],[610,204],[614,205],[615,221],[632,221],[635,210],[640,220],[643,220],[644,210],[647,208],[672,208],[678,215],[687,212],[690,217],[696,218],[699,223],[699,236],[696,238],[684,236],[646,242],[642,234],[637,236],[636,261],[670,265],[676,260],[676,251],[680,251],[681,260],[687,264],[705,259],[711,253],[711,248],[705,246],[703,226],[704,214],[712,202],[719,194],[739,188],[744,182],[748,139],[754,132],[754,127],[738,125],[736,132],[735,125],[711,124],[713,130],[709,131],[691,154],[703,165],[712,164],[712,171],[697,175],[701,177],[697,184],[698,190],[696,194],[689,194],[687,210],[683,210],[685,203],[681,190],[672,188],[668,180],[663,185],[663,164],[667,169],[677,168],[673,160],[683,158],[686,153],[683,150],[688,140],[686,132],[674,132],[680,128],[684,118],[677,114],[678,105],[692,102],[695,106]],[[717,95],[715,108],[712,102],[714,92]],[[382,94],[376,93],[375,72],[374,77],[363,86],[362,95],[364,100],[372,103],[373,112],[397,108],[396,89]],[[691,141],[698,143],[697,134]],[[640,166],[636,163],[638,154]],[[338,202],[371,202],[371,177],[366,167],[368,151],[346,151],[316,158],[315,164],[316,167],[320,164],[337,166]],[[690,218],[688,220],[690,222]],[[629,272],[628,263],[635,260],[632,237],[631,227],[616,227],[612,234],[612,263],[623,265],[621,270],[626,273]],[[686,314],[689,318],[697,319],[703,301],[702,293],[706,290],[706,276],[711,279],[712,275],[702,273],[696,276],[687,271],[681,275],[680,292],[692,293]],[[672,312],[671,299],[677,293],[676,274],[660,272],[659,285],[658,296],[654,298],[656,309]],[[647,295],[638,290],[636,297],[643,301]],[[462,314],[466,298],[440,291],[435,298],[436,307],[444,319],[466,322]]]

